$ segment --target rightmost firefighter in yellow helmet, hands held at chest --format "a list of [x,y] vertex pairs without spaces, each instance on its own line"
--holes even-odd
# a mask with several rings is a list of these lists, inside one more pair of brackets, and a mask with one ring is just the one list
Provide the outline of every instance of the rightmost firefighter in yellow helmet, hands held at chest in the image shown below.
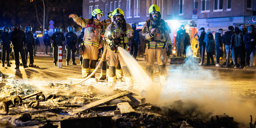
[[149,7],[150,19],[146,21],[142,28],[142,37],[146,39],[146,71],[153,80],[154,62],[157,60],[160,74],[160,81],[167,78],[166,63],[168,62],[166,50],[171,48],[171,29],[162,20],[160,8],[157,5]]

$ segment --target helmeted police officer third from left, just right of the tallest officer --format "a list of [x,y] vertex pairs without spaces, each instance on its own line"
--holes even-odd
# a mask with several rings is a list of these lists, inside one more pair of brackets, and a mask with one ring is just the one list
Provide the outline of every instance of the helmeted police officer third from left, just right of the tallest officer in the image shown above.
[[34,58],[33,58],[33,49],[35,48],[35,38],[34,35],[31,33],[32,27],[27,26],[25,30],[25,54],[26,54],[26,60],[28,62],[28,53],[29,53],[29,65],[33,66]]

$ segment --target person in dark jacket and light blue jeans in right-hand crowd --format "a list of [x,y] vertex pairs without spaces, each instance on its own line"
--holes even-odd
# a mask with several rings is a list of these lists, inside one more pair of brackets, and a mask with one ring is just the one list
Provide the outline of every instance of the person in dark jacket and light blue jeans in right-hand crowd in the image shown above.
[[227,63],[226,63],[226,68],[230,66],[230,61],[229,61],[229,57],[230,57],[230,53],[232,58],[234,58],[234,51],[232,50],[230,52],[231,49],[231,36],[234,34],[233,30],[233,26],[229,26],[228,27],[228,32],[225,32],[225,34],[223,35],[223,43],[225,45],[225,49],[227,52]]

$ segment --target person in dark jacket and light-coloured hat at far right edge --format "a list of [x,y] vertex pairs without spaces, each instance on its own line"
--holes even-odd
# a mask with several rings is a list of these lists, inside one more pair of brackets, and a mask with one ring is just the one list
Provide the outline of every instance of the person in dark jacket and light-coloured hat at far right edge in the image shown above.
[[246,66],[249,66],[250,55],[251,53],[253,53],[253,49],[255,48],[255,35],[253,34],[253,28],[251,26],[248,27],[247,31],[248,32],[243,37],[243,41],[245,44],[245,51],[246,51],[245,63],[246,63]]

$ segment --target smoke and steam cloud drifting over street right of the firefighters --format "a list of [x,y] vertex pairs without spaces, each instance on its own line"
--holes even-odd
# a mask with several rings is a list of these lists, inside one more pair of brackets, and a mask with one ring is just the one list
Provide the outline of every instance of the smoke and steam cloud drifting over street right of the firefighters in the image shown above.
[[191,55],[184,60],[182,66],[168,67],[167,84],[162,87],[158,103],[181,100],[183,104],[196,104],[197,111],[211,112],[212,115],[226,113],[233,116],[235,121],[246,124],[250,121],[250,115],[255,118],[256,112],[253,110],[256,102],[239,98],[234,89],[237,81],[223,80],[217,71],[199,66],[197,58],[192,57],[190,50],[187,48],[186,53]]

